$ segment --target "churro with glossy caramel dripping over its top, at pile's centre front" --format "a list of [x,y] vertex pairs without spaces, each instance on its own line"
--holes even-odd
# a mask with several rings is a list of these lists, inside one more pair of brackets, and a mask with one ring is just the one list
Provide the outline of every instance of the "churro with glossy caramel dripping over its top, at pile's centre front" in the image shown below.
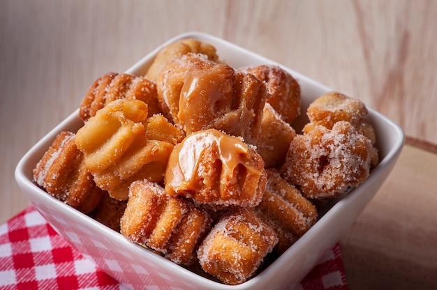
[[262,158],[241,139],[202,130],[188,135],[170,154],[165,192],[204,204],[255,206],[265,175]]

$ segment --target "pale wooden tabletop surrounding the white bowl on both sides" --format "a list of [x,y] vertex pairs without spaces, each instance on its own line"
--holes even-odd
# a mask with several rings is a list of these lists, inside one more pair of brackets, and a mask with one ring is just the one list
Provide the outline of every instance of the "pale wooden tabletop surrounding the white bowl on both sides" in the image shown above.
[[341,238],[346,279],[350,289],[437,287],[436,15],[431,0],[0,0],[0,222],[29,205],[13,176],[18,160],[96,77],[202,31],[401,125],[397,166]]

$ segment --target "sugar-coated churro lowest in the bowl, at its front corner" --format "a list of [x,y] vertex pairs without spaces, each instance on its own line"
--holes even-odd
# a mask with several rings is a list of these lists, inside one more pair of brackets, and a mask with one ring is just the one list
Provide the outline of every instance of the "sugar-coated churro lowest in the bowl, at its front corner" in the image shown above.
[[200,266],[225,284],[240,284],[256,273],[278,238],[251,209],[223,217],[198,250]]

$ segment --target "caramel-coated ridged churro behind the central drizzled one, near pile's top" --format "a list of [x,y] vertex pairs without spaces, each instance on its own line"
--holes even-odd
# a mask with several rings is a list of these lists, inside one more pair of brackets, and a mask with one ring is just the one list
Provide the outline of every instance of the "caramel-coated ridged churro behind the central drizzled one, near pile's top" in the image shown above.
[[184,80],[178,119],[186,134],[215,128],[258,143],[267,86],[223,63],[196,63]]

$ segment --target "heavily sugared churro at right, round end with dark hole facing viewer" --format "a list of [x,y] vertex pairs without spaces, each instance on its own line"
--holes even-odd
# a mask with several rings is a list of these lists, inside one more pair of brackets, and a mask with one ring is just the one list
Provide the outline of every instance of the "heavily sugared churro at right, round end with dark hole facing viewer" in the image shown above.
[[336,197],[369,176],[371,141],[346,121],[292,140],[283,175],[309,198]]

